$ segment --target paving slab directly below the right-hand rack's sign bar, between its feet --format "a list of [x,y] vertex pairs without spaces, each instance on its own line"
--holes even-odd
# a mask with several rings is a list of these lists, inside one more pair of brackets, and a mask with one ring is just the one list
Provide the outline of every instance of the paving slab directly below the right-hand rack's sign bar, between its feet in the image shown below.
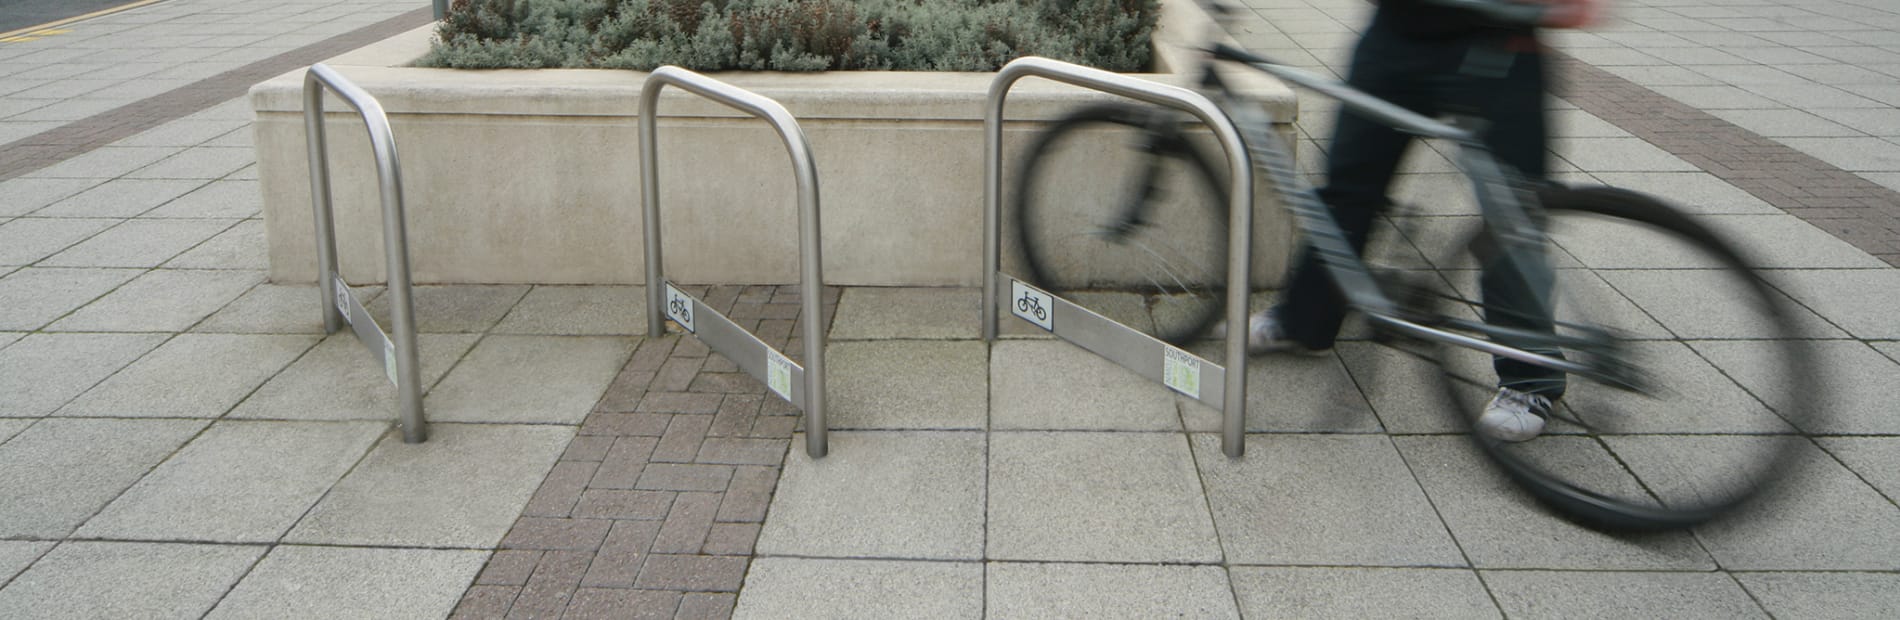
[[1180,424],[1172,390],[1075,344],[990,346],[992,428],[1180,430]]

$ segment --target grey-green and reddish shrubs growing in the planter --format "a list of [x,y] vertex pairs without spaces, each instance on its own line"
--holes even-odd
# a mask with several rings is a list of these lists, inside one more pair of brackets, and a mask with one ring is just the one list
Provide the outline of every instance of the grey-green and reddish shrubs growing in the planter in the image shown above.
[[1150,68],[1157,0],[454,0],[420,67]]

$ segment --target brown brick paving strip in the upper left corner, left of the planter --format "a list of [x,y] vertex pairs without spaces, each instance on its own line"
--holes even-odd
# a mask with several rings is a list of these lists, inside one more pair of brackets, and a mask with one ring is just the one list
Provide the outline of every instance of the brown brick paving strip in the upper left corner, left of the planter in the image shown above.
[[139,131],[243,97],[258,82],[407,32],[433,19],[433,8],[424,6],[346,34],[0,145],[0,181],[65,162],[66,158],[116,143]]

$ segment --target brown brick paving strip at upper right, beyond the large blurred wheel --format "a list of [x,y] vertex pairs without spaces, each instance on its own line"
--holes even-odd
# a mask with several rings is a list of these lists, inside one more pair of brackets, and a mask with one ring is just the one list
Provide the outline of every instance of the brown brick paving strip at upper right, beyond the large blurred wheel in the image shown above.
[[1900,192],[1590,63],[1552,53],[1552,65],[1585,112],[1900,266]]

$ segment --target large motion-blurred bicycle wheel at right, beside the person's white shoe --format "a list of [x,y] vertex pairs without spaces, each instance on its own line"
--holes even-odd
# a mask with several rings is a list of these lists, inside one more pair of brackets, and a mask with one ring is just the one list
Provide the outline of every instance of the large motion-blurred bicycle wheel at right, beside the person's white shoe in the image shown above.
[[[1818,377],[1790,302],[1712,230],[1655,198],[1552,190],[1545,211],[1554,333],[1579,342],[1562,354],[1607,377],[1537,384],[1562,390],[1543,436],[1505,443],[1472,432],[1484,453],[1537,500],[1606,531],[1683,529],[1758,496],[1822,422],[1803,405]],[[1478,289],[1474,272],[1457,280]],[[1490,312],[1495,325],[1509,310]],[[1444,350],[1452,401],[1474,420],[1497,386],[1493,361]]]

